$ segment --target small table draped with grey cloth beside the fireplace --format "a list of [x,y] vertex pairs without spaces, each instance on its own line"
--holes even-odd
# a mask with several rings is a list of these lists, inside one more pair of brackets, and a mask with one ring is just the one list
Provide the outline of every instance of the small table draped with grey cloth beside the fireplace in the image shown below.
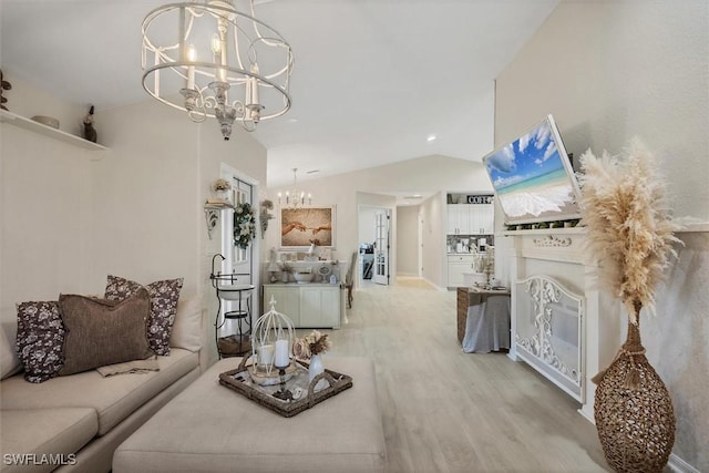
[[466,353],[510,349],[510,290],[459,287],[458,341]]

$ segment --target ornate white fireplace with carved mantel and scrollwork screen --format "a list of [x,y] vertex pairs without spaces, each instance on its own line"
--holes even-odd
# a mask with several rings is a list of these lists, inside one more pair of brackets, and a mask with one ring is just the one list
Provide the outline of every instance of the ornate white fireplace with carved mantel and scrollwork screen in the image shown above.
[[572,395],[593,422],[596,385],[590,378],[610,363],[623,341],[625,319],[619,305],[598,290],[596,263],[584,250],[584,229],[503,235],[506,238],[496,243],[508,258],[501,263],[510,268],[512,288],[510,357]]

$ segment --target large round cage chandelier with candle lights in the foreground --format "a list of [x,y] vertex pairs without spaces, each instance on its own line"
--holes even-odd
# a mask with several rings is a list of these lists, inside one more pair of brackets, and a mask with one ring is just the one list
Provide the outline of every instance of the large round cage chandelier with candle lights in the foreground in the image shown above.
[[[193,122],[216,117],[224,140],[236,121],[253,132],[290,109],[290,45],[256,19],[254,0],[164,4],[143,20],[143,88]],[[245,13],[244,11],[247,11]]]

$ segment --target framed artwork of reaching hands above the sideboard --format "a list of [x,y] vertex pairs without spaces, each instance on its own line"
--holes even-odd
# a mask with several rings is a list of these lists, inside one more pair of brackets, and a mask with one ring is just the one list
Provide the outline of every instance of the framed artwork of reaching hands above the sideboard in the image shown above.
[[335,205],[281,207],[278,220],[281,249],[335,248]]

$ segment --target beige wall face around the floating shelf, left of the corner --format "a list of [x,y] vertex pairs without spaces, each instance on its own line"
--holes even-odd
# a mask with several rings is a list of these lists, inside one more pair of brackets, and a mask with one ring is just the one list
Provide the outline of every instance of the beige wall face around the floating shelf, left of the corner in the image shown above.
[[[83,106],[64,104],[10,71],[8,109],[48,115],[60,130],[80,133]],[[79,148],[10,123],[0,124],[0,313],[16,320],[14,305],[80,292],[91,258],[91,168],[102,153]]]

